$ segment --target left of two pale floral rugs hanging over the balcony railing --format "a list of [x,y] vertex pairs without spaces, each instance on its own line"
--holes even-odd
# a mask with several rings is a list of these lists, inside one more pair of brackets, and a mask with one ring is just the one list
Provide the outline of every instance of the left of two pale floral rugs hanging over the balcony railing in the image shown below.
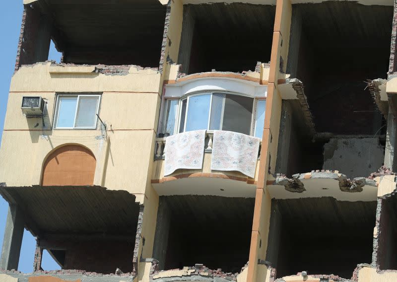
[[164,176],[180,168],[201,169],[205,130],[188,131],[167,137]]

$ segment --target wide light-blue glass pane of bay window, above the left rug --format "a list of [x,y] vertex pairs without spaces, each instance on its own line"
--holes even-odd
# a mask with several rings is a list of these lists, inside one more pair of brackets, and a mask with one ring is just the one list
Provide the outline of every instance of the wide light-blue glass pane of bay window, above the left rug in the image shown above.
[[211,94],[192,96],[189,98],[185,131],[207,129],[210,101]]

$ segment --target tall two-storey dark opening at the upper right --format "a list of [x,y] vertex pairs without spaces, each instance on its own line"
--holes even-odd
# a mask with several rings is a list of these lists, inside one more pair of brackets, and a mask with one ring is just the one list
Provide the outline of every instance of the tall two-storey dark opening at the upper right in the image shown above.
[[287,73],[303,81],[316,131],[374,135],[383,121],[365,81],[387,77],[393,6],[292,7]]

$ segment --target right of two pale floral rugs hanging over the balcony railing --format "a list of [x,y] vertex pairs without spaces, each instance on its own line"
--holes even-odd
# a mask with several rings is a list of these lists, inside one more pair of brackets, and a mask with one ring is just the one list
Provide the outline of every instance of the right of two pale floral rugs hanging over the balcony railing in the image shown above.
[[259,142],[249,135],[214,130],[211,170],[236,170],[254,178]]

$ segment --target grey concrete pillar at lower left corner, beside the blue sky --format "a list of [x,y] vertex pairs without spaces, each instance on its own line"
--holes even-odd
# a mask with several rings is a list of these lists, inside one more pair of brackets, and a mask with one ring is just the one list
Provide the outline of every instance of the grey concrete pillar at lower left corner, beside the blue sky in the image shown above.
[[9,206],[1,249],[0,268],[6,270],[18,269],[23,229],[24,220],[22,212],[16,205]]

